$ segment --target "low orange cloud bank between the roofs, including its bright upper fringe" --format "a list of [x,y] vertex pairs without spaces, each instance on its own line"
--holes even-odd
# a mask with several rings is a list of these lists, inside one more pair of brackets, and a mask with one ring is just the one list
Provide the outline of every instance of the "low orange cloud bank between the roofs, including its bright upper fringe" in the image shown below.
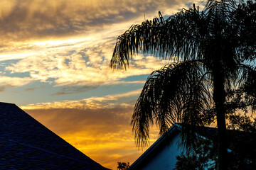
[[[130,125],[134,103],[118,102],[120,98],[138,94],[139,90],[82,101],[38,103],[21,108],[88,157],[116,169],[117,162],[132,163],[142,154],[134,144]],[[151,143],[157,137],[157,130],[154,129]]]

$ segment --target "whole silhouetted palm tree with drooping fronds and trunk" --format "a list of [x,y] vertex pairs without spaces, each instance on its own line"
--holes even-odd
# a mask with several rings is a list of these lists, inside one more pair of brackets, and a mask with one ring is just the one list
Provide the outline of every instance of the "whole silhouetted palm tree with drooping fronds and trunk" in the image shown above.
[[[138,52],[173,59],[146,80],[134,108],[135,140],[144,147],[149,127],[163,134],[183,123],[183,142],[193,145],[193,127],[217,120],[218,169],[227,169],[225,116],[252,106],[255,111],[255,1],[208,0],[188,10],[134,25],[117,38],[110,67],[127,69]],[[235,102],[233,102],[235,101]]]

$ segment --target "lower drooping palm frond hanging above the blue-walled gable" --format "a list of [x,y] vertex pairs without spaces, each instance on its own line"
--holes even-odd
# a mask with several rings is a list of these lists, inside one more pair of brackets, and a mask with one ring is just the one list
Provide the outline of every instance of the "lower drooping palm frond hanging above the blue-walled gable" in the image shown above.
[[132,115],[137,146],[144,147],[150,125],[162,135],[176,122],[204,125],[203,114],[210,108],[206,70],[198,60],[166,65],[149,76]]

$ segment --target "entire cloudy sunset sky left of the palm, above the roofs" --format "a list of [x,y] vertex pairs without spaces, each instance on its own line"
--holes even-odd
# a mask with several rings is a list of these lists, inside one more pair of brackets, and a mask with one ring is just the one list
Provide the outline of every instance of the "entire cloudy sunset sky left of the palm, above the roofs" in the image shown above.
[[[132,24],[201,1],[1,0],[0,101],[16,103],[48,129],[110,169],[134,162],[130,120],[148,75],[171,60],[134,57],[109,64]],[[159,137],[152,128],[150,143]]]

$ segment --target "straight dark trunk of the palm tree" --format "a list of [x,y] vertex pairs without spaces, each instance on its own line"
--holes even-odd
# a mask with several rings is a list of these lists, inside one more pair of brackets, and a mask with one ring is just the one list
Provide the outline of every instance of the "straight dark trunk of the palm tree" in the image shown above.
[[[220,66],[220,65],[219,65]],[[218,170],[226,170],[228,144],[226,139],[226,125],[225,125],[225,89],[224,89],[224,75],[220,71],[220,67],[215,69],[213,74],[213,101],[215,102],[218,125]]]

